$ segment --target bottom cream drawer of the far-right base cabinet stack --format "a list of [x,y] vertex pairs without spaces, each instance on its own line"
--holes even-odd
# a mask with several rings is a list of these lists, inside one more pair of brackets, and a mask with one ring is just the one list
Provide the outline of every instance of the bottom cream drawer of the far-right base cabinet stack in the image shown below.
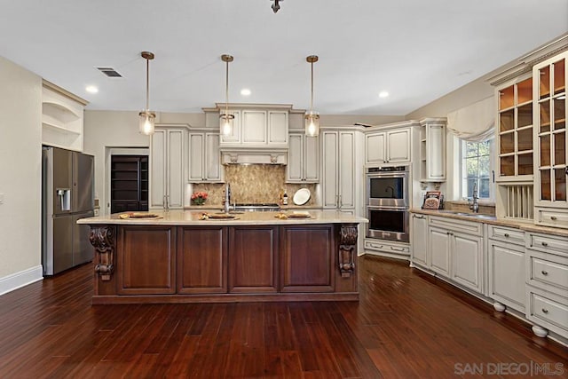
[[556,331],[564,331],[565,334],[568,332],[568,299],[551,297],[553,296],[529,291],[529,320],[535,320]]

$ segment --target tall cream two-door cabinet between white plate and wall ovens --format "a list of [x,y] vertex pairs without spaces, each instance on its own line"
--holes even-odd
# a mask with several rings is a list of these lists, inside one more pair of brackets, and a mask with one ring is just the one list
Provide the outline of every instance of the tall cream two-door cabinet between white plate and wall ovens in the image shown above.
[[355,212],[356,131],[323,130],[323,208]]

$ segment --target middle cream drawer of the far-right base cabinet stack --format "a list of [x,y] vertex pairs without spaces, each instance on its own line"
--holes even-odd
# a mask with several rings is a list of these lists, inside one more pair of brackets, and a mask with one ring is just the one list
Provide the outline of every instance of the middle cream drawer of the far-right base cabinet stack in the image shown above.
[[[553,286],[568,294],[568,258],[529,251],[529,283],[533,286]],[[553,288],[544,288],[552,290]]]

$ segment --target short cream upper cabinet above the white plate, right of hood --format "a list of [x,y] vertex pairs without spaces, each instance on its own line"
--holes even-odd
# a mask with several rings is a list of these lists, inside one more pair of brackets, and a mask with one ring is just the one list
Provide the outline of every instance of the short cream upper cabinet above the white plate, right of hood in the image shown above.
[[288,136],[287,183],[319,182],[319,138],[302,133]]

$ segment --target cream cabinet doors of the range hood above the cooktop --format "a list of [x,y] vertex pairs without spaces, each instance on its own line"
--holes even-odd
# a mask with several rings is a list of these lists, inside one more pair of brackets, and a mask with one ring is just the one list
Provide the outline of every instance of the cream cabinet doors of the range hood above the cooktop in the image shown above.
[[[222,112],[222,111],[221,111]],[[221,135],[221,147],[288,147],[288,110],[232,110],[233,130]]]

